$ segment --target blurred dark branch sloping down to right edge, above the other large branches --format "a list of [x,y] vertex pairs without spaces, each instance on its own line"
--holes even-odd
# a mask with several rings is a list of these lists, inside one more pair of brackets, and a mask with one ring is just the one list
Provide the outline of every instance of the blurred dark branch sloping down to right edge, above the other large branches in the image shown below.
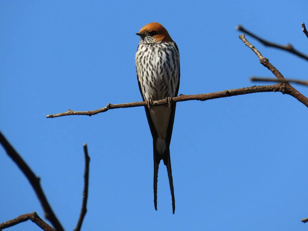
[[277,44],[277,43],[272,43],[272,42],[266,41],[265,39],[262,39],[259,36],[253,34],[249,30],[246,30],[241,25],[238,25],[236,27],[236,29],[240,30],[240,31],[243,31],[245,34],[249,34],[251,37],[259,40],[261,43],[263,43],[267,47],[275,47],[275,48],[278,48],[278,49],[281,49],[281,50],[289,51],[290,53],[292,53],[294,55],[297,55],[297,56],[299,56],[299,57],[301,57],[303,59],[306,59],[308,61],[308,55],[305,55],[305,54],[295,50],[291,44],[287,44],[287,45],[283,46],[283,45],[280,45],[280,44]]

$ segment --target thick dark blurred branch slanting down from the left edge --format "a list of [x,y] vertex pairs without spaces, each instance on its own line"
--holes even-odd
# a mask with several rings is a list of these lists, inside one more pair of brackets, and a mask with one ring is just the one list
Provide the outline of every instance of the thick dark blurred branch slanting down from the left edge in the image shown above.
[[43,210],[45,212],[45,217],[51,222],[51,224],[55,227],[57,231],[63,231],[62,225],[60,224],[59,220],[55,216],[54,212],[52,211],[45,194],[40,185],[39,177],[36,177],[29,166],[25,163],[24,160],[18,155],[15,149],[10,145],[10,143],[6,140],[6,138],[0,132],[0,143],[2,144],[3,148],[6,150],[8,156],[12,158],[12,160],[18,165],[20,170],[25,174],[27,179],[29,180],[32,188],[34,189],[36,196],[39,198]]

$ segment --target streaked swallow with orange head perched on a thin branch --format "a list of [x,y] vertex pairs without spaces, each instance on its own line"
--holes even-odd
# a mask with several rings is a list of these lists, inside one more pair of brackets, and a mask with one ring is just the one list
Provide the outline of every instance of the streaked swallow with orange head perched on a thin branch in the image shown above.
[[[170,141],[180,86],[180,53],[165,27],[158,22],[143,26],[139,32],[136,52],[136,72],[145,114],[153,138],[154,207],[157,210],[157,181],[160,160],[167,168],[172,213],[175,212],[174,188],[170,161]],[[152,101],[165,99],[166,104],[153,106]]]

